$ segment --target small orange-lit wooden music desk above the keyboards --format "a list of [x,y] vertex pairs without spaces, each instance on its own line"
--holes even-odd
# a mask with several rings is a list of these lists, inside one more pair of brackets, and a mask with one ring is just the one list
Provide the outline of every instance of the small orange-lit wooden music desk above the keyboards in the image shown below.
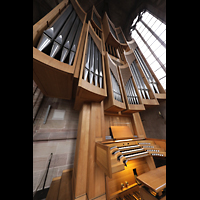
[[133,138],[133,133],[128,126],[111,126],[113,139]]

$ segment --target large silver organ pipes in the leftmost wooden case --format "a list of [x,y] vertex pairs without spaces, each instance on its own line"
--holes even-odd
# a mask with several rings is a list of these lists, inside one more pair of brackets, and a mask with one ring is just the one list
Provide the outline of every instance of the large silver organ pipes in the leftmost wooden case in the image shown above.
[[69,4],[52,26],[43,32],[37,49],[45,51],[52,44],[49,56],[55,58],[58,52],[61,51],[58,59],[71,65],[76,53],[82,25],[73,6]]

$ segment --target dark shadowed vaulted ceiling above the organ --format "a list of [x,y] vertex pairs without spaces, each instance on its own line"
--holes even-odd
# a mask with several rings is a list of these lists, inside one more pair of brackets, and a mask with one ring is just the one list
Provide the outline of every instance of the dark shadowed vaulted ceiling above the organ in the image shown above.
[[[62,0],[33,0],[33,24],[45,16]],[[134,18],[144,9],[166,23],[166,0],[78,0],[90,19],[92,6],[103,17],[107,12],[115,27],[121,26],[127,40],[131,40],[130,27]]]

